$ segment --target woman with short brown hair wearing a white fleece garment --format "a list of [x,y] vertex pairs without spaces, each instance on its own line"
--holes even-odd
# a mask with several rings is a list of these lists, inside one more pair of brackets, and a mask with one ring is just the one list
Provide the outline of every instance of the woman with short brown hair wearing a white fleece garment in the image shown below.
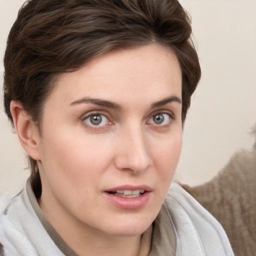
[[190,34],[173,0],[25,3],[4,106],[31,176],[2,207],[3,255],[233,255],[171,184],[200,77]]

